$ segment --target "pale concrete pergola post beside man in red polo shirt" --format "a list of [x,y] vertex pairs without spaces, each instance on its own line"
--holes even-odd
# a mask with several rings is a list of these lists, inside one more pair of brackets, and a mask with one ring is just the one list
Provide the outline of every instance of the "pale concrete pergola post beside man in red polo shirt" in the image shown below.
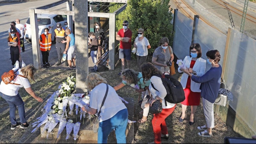
[[115,41],[116,41],[116,13],[109,14],[109,57],[108,57],[108,69],[115,69]]

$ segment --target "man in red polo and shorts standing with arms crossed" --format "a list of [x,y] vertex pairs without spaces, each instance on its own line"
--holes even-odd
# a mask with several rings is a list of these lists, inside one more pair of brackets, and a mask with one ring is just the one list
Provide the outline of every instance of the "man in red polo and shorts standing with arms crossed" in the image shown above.
[[[130,69],[131,65],[131,53],[132,53],[132,31],[128,28],[129,22],[124,20],[123,28],[120,29],[116,35],[116,40],[120,41],[119,59],[122,61],[122,71],[125,68],[125,59],[127,62],[127,68]],[[119,73],[118,75],[121,75]]]

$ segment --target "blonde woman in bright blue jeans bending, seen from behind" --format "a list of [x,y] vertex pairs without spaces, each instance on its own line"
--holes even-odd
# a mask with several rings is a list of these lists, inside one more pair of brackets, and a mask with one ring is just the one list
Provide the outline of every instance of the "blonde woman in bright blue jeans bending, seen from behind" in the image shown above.
[[[96,73],[90,73],[86,77],[85,84],[90,92],[90,107],[82,107],[82,110],[91,115],[98,115],[100,122],[98,143],[107,143],[108,135],[114,129],[117,143],[126,143],[125,130],[128,121],[128,110],[119,99],[115,89]],[[103,103],[106,93],[107,96]]]

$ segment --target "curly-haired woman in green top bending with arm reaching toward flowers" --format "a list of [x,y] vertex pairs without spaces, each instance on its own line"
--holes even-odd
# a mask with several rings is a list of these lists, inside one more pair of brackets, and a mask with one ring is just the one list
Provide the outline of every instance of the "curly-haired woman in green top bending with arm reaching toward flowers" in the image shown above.
[[[123,72],[121,72],[121,77],[123,78],[122,82],[114,86],[116,91],[128,84],[135,90],[135,92],[141,92],[141,97],[143,100],[146,99],[146,96],[149,95],[148,86],[150,84],[150,80],[145,81],[141,72],[136,72],[133,69],[125,69]],[[146,122],[148,117],[149,107],[145,108],[143,105],[141,105],[141,108],[143,110],[140,111],[139,114],[143,116],[138,120],[138,123]]]

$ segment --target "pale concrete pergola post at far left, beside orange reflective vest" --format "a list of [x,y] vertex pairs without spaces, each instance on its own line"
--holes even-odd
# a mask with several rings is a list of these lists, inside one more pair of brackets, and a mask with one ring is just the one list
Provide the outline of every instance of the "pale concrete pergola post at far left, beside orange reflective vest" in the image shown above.
[[32,52],[33,52],[33,63],[36,69],[41,68],[40,60],[40,46],[38,36],[38,25],[37,25],[37,14],[34,9],[29,10],[30,27],[31,27],[31,41],[32,41]]

